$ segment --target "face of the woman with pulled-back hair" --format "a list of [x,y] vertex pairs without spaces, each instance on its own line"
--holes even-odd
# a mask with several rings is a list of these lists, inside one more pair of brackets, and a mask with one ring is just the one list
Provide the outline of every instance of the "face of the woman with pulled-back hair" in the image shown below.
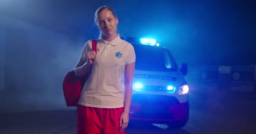
[[104,36],[115,36],[117,31],[118,19],[112,14],[111,11],[104,9],[98,15],[98,26]]

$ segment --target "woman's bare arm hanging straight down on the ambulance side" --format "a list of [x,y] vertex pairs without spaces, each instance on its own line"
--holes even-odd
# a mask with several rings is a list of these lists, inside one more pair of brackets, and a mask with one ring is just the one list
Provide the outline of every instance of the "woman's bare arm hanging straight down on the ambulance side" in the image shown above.
[[133,77],[135,70],[135,62],[125,65],[125,103],[124,111],[120,118],[120,131],[128,126],[129,111],[131,106],[131,97],[133,93]]

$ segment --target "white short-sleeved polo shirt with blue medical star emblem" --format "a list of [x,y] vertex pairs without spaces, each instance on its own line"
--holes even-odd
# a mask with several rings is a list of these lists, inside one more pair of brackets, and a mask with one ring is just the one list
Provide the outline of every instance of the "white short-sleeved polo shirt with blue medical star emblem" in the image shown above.
[[[87,61],[87,52],[92,49],[89,40],[81,54]],[[124,92],[121,78],[126,64],[135,62],[133,46],[118,35],[113,41],[97,40],[97,54],[91,75],[81,92],[78,104],[96,108],[123,107]]]

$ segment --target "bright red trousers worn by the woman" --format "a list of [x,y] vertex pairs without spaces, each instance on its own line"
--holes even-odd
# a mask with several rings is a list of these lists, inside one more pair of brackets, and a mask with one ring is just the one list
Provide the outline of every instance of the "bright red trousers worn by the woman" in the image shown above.
[[125,134],[120,132],[123,108],[77,106],[77,134]]

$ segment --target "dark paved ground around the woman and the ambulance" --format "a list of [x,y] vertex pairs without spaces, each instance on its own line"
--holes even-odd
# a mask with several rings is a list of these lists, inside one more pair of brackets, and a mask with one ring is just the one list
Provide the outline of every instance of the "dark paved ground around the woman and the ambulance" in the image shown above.
[[[65,106],[62,95],[0,97],[0,134],[76,134],[75,108]],[[255,100],[255,93],[206,95],[191,90],[186,126],[170,129],[166,124],[130,121],[126,134],[256,134]]]

